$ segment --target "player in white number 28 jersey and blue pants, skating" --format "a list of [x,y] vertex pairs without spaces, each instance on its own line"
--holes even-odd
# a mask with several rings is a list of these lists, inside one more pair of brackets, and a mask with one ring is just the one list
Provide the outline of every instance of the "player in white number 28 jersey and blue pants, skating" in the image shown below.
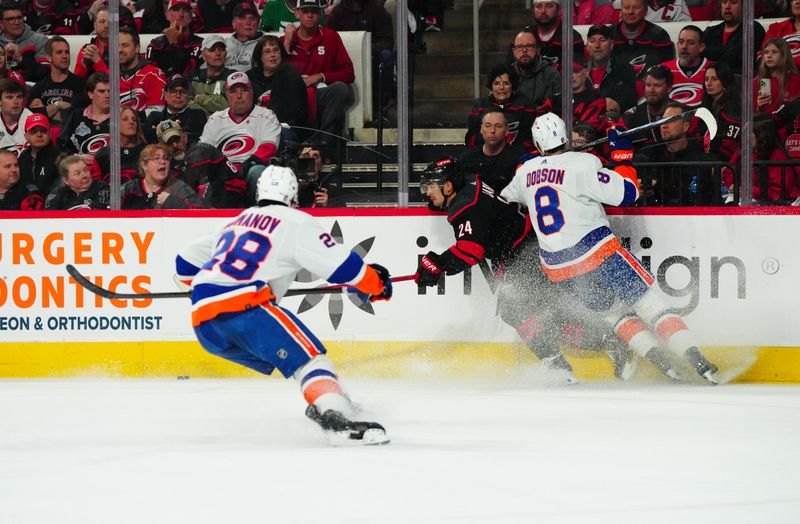
[[210,353],[258,372],[294,377],[306,415],[324,430],[365,444],[388,442],[380,424],[354,422],[354,409],[314,334],[278,302],[300,269],[350,284],[371,301],[392,296],[389,272],[337,244],[316,219],[293,209],[297,179],[269,166],[258,205],[187,246],[176,272],[192,287],[192,325]]

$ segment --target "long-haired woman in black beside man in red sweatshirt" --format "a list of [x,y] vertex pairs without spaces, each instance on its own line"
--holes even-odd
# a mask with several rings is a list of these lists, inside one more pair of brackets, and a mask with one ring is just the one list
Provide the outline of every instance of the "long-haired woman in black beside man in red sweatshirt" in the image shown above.
[[[247,72],[253,96],[261,107],[271,109],[282,124],[308,126],[308,95],[303,78],[290,64],[279,37],[265,35],[253,51],[253,68]],[[283,130],[286,140],[297,142],[304,131]]]

